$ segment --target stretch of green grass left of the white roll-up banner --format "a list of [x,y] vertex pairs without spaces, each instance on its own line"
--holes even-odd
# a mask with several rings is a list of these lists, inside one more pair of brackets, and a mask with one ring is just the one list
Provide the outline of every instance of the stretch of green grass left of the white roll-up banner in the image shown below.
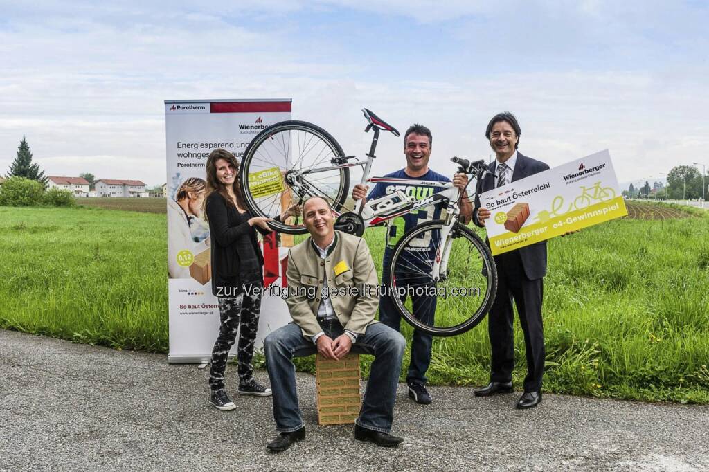
[[167,349],[165,215],[0,207],[0,327]]

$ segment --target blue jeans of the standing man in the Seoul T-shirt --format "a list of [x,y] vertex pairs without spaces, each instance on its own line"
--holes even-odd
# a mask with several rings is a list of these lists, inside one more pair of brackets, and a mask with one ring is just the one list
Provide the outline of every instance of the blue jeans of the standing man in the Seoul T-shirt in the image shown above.
[[[382,274],[389,273],[389,267],[391,266],[391,254],[392,250],[389,248],[384,249],[384,262],[382,262]],[[415,262],[409,263],[409,265],[415,265]],[[428,266],[423,266],[422,270],[428,271]],[[409,272],[408,274],[411,274]],[[405,288],[407,283],[406,273],[396,273],[396,285],[397,288]],[[382,276],[382,279],[386,278]],[[415,281],[417,286],[420,284],[420,280]],[[401,314],[398,313],[393,301],[389,296],[389,286],[384,283],[384,290],[379,296],[379,321],[383,322],[385,325],[389,326],[393,330],[401,329]],[[401,296],[401,301],[406,300],[406,295]],[[412,295],[411,300],[413,302],[413,313],[416,318],[422,320],[430,325],[433,324],[434,316],[436,313],[436,300],[435,296],[426,295]],[[433,344],[433,337],[427,335],[419,330],[413,330],[413,337],[411,337],[411,361],[408,364],[408,373],[406,374],[407,382],[415,382],[425,385],[428,378],[426,378],[426,371],[428,371],[428,366],[431,364],[431,347]]]

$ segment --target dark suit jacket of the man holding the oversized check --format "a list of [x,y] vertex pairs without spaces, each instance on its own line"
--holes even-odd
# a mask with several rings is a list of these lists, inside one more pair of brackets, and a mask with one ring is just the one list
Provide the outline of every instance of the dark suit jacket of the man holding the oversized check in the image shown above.
[[[473,223],[482,227],[478,222],[478,210],[480,208],[480,193],[492,190],[495,188],[496,181],[496,168],[497,159],[495,159],[491,164],[488,165],[489,173],[486,174],[484,179],[478,181],[475,187],[475,208],[473,210]],[[524,179],[538,172],[542,172],[549,169],[549,166],[544,162],[537,161],[537,159],[532,159],[531,157],[523,156],[519,151],[517,152],[517,162],[515,162],[515,170],[512,173],[512,181]],[[490,245],[489,240],[485,240],[488,245]],[[515,249],[519,252],[520,259],[522,259],[522,265],[525,269],[525,274],[527,279],[535,280],[541,279],[547,274],[547,242],[537,242],[536,244],[520,247],[520,249]]]

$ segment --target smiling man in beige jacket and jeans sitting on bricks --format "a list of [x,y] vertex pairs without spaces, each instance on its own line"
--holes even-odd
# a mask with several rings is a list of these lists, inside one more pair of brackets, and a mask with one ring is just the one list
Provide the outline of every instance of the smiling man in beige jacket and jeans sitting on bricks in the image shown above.
[[406,342],[398,332],[374,321],[378,279],[367,243],[335,231],[333,211],[320,197],[303,204],[303,223],[311,237],[288,254],[286,303],[293,322],[264,341],[273,415],[280,432],[267,448],[285,451],[306,437],[292,359],[319,352],[339,360],[350,350],[375,356],[354,439],[398,446],[403,438],[389,432]]

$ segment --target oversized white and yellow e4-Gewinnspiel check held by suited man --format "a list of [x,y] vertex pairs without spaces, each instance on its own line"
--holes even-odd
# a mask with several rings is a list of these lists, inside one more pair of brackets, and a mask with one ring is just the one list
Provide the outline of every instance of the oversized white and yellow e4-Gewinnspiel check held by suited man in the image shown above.
[[608,150],[481,193],[480,204],[493,254],[627,215]]

